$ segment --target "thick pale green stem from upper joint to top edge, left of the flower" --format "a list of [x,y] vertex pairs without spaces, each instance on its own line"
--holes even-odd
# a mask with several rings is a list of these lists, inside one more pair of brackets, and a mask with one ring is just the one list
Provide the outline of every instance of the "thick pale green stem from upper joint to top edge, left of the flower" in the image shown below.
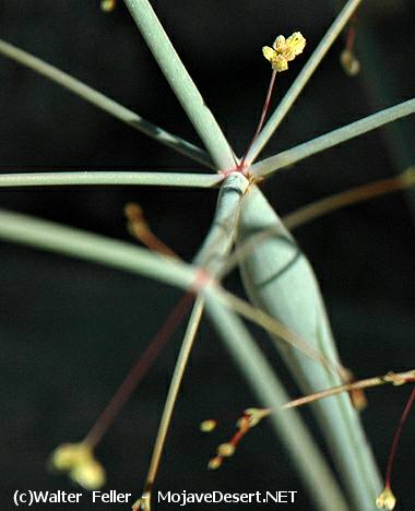
[[218,169],[235,167],[233,151],[147,0],[124,0],[191,123]]

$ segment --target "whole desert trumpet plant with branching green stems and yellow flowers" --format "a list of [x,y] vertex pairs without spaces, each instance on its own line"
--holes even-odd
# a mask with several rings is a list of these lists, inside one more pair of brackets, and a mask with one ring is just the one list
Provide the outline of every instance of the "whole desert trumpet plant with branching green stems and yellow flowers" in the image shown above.
[[[153,138],[155,142],[210,169],[209,174],[193,170],[170,173],[157,168],[144,168],[140,171],[118,168],[103,170],[76,168],[55,171],[55,169],[37,168],[36,171],[32,169],[29,173],[10,173],[5,169],[0,175],[1,187],[17,189],[19,187],[45,186],[145,185],[217,188],[220,190],[211,227],[191,263],[181,260],[176,252],[165,250],[165,242],[163,245],[158,240],[156,243],[153,242],[155,237],[151,237],[150,241],[149,236],[146,237],[146,245],[153,249],[151,251],[109,236],[66,227],[26,214],[0,211],[0,237],[5,241],[99,263],[134,276],[144,275],[180,288],[186,294],[183,300],[187,307],[190,307],[194,300],[167,392],[147,476],[144,480],[137,480],[137,485],[142,483],[143,487],[141,498],[139,497],[140,490],[134,489],[139,497],[134,503],[137,510],[150,509],[151,502],[154,501],[153,488],[157,486],[156,477],[163,464],[163,451],[170,429],[175,403],[204,314],[210,317],[233,360],[249,383],[254,400],[258,401],[258,407],[257,404],[253,406],[247,403],[250,412],[248,418],[245,417],[239,423],[241,435],[245,435],[252,426],[252,421],[249,420],[257,417],[259,409],[275,411],[289,402],[288,393],[278,375],[252,338],[241,317],[254,321],[270,332],[272,344],[282,354],[301,392],[313,394],[324,389],[351,383],[351,373],[339,356],[311,264],[284,222],[265,199],[262,182],[280,169],[306,161],[309,156],[320,152],[334,151],[332,147],[345,141],[410,116],[415,111],[415,99],[396,102],[394,106],[378,109],[379,111],[348,124],[342,122],[340,126],[336,124],[333,131],[297,144],[289,150],[278,151],[273,156],[263,159],[259,159],[259,156],[331,46],[345,29],[359,3],[358,0],[345,2],[317,45],[307,43],[305,46],[307,34],[303,28],[299,32],[297,25],[294,27],[296,32],[286,38],[277,33],[270,35],[271,38],[268,40],[272,41],[274,38],[274,44],[272,47],[263,47],[262,51],[271,64],[271,70],[269,70],[271,84],[258,128],[241,156],[238,156],[232,148],[229,140],[225,136],[225,130],[221,128],[220,121],[206,106],[195,81],[167,35],[167,28],[165,29],[164,23],[157,17],[147,0],[126,0],[124,4],[200,136],[203,148],[173,134],[167,129],[153,124],[132,109],[123,107],[25,50],[0,40],[0,54],[3,56],[43,74],[129,127]],[[102,2],[103,10],[112,10],[112,2]],[[123,12],[126,14],[127,10]],[[266,40],[263,44],[266,44]],[[258,54],[261,57],[261,46],[258,48]],[[268,64],[268,62],[264,63]],[[296,67],[301,70],[296,78],[293,76],[292,84],[282,99],[278,98],[276,102],[274,98],[277,106],[273,109],[271,96],[273,91],[274,94],[276,91],[280,95],[280,76],[282,76],[281,81],[283,78],[287,80]],[[285,72],[281,73],[281,71]],[[266,121],[269,109],[273,111]],[[405,169],[401,169],[403,170]],[[319,207],[313,207],[311,213],[303,212],[303,216],[295,217],[297,219],[293,222],[299,225],[312,217],[317,210],[319,214],[324,214],[333,209],[358,202],[370,194],[376,197],[389,191],[410,188],[413,185],[413,171],[407,170],[402,176],[399,182],[395,178],[393,182],[388,181],[387,185],[374,183],[375,188],[366,190],[366,194],[359,194],[355,190],[351,191],[346,198],[343,195],[333,198],[330,204],[320,203]],[[270,180],[270,182],[273,181]],[[137,230],[139,210],[130,207],[126,211],[130,233],[143,239],[142,234]],[[187,212],[189,225],[191,225],[190,216]],[[162,246],[163,250],[159,250]],[[240,269],[250,305],[225,289],[225,277],[235,265]],[[186,310],[179,310],[176,316],[174,313],[175,318],[182,319]],[[178,320],[174,321],[175,326],[178,322]],[[163,326],[161,331],[163,335],[155,337],[158,340],[158,347],[161,346],[159,340],[163,338],[164,343],[169,333],[168,329]],[[153,360],[157,354],[151,347],[150,349]],[[121,404],[127,401],[139,380],[142,379],[144,373],[140,372],[141,369],[135,370],[137,367],[140,369],[142,366],[139,363],[133,367],[126,379],[127,383],[121,385],[120,392],[116,392],[114,400],[92,428],[93,433],[86,435],[80,443],[67,443],[54,451],[55,468],[68,472],[73,480],[85,488],[99,486],[98,483],[104,483],[105,477],[110,480],[109,471],[105,476],[100,464],[96,461],[95,448],[112,424]],[[150,364],[145,364],[145,371],[149,368]],[[298,411],[288,408],[282,414],[273,413],[270,414],[268,420],[286,449],[287,459],[290,460],[304,482],[316,508],[328,511],[333,509],[366,511],[372,510],[376,502],[378,506],[382,502],[383,507],[391,506],[391,495],[381,494],[383,484],[358,412],[353,407],[348,394],[333,393],[325,400],[316,401],[311,406],[334,461],[336,474],[331,470],[330,463]],[[239,437],[220,444],[210,467],[218,468],[224,457],[233,456],[238,441]],[[266,447],[266,450],[270,449]],[[236,463],[236,460],[233,462]],[[129,462],[131,470],[133,470],[132,465],[133,460]]]

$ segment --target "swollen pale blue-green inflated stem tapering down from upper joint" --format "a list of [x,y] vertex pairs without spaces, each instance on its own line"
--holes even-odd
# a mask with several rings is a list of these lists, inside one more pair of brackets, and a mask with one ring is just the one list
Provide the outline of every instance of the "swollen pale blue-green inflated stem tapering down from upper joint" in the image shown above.
[[[308,260],[256,187],[249,189],[244,202],[239,243],[271,227],[275,233],[273,238],[257,243],[240,263],[250,300],[327,358],[339,360],[324,304]],[[305,394],[342,383],[324,366],[285,343],[280,344],[281,353]],[[316,403],[313,411],[355,509],[372,510],[382,485],[348,395]]]

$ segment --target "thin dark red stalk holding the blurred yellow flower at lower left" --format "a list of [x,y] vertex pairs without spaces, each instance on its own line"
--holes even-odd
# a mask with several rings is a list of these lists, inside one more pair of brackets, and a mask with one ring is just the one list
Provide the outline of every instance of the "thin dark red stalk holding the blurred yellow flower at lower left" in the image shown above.
[[84,443],[87,443],[91,448],[94,448],[100,441],[100,439],[114,421],[115,417],[118,415],[126,401],[134,391],[139,381],[147,372],[162,348],[170,338],[173,332],[176,330],[180,321],[183,319],[185,314],[188,312],[189,307],[193,301],[193,293],[188,292],[176,305],[167,320],[164,322],[162,328],[153,337],[152,342],[149,344],[143,355],[139,358],[139,360],[127,375],[126,379],[122,381],[116,393],[112,395],[104,412],[99,415],[97,421],[85,437]]

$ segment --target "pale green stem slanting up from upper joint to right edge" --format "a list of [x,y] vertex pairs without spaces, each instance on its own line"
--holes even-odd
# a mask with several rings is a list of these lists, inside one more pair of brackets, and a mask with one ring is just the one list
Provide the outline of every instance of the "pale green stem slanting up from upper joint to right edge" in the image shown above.
[[312,156],[313,154],[325,151],[334,145],[339,145],[347,140],[359,136],[368,131],[376,130],[388,122],[392,122],[402,117],[415,112],[415,99],[400,103],[384,110],[364,117],[351,124],[333,130],[303,144],[296,145],[287,151],[263,159],[251,167],[251,174],[257,177],[269,176],[281,168],[293,165],[300,159]]

